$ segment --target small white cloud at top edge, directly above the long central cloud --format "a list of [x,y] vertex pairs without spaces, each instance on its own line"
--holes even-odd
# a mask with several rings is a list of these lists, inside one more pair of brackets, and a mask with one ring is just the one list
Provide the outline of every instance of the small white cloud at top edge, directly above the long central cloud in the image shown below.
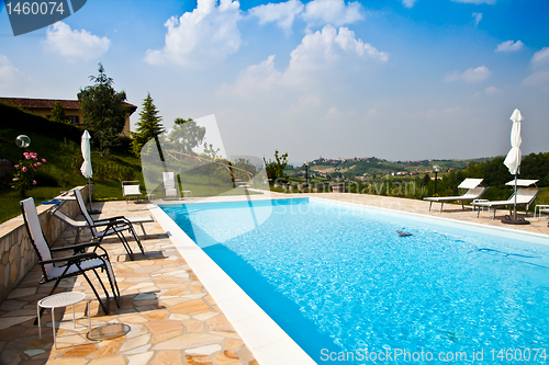
[[363,20],[362,5],[358,2],[345,4],[345,0],[313,0],[302,13],[309,25],[333,24],[336,26]]

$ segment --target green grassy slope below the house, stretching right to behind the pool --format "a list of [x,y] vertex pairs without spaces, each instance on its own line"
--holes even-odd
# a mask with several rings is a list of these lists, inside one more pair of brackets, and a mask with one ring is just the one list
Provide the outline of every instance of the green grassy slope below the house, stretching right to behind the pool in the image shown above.
[[[37,168],[35,180],[37,184],[27,192],[36,203],[48,201],[61,191],[78,185],[85,185],[87,180],[80,172],[83,162],[80,140],[82,132],[75,126],[51,122],[18,107],[0,103],[0,160],[9,160],[10,164],[18,164],[21,149],[15,146],[19,135],[27,135],[31,146],[27,152],[35,152],[38,159],[46,159]],[[93,140],[93,134],[92,134]],[[110,155],[100,156],[92,149],[91,162],[93,167],[94,201],[122,199],[121,182],[137,180],[144,192],[144,180],[141,160],[128,153],[130,146],[122,145],[119,150]],[[198,158],[198,157],[197,157]],[[166,167],[176,174],[180,174],[179,182],[182,190],[192,191],[193,196],[233,195],[243,194],[243,190],[235,190],[227,169],[220,163],[199,163],[194,159],[171,161]],[[165,168],[166,168],[165,167]],[[235,166],[236,170],[237,166]],[[163,196],[161,166],[150,167],[159,179],[159,185],[153,191],[156,197]],[[21,214],[19,202],[22,196],[11,187],[12,175],[0,176],[0,223]]]

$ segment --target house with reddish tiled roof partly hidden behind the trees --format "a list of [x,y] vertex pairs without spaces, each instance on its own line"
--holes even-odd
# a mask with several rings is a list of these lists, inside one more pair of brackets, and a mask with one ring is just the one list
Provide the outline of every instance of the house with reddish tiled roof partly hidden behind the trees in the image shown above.
[[[78,100],[53,100],[53,99],[26,99],[26,98],[0,98],[0,102],[5,104],[11,104],[24,109],[27,112],[34,113],[40,116],[49,118],[52,116],[52,110],[54,109],[55,102],[58,101],[67,118],[77,126],[83,124],[83,115],[80,111],[80,102]],[[122,134],[130,137],[130,115],[135,113],[137,106],[124,103],[130,107],[130,114],[126,116],[126,123],[124,125],[124,130]]]

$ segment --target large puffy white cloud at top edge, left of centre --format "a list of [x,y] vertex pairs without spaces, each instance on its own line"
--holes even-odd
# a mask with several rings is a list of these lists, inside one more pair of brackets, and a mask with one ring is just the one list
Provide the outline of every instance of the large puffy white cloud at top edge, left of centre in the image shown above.
[[217,62],[236,53],[242,44],[237,22],[242,19],[238,1],[198,0],[197,9],[179,19],[171,16],[163,49],[148,49],[145,61],[170,61],[182,66]]

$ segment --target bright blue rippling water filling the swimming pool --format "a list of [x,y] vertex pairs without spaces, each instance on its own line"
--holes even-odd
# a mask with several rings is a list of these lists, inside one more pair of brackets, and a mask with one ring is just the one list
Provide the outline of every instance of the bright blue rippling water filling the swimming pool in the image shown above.
[[163,209],[320,364],[549,357],[549,246],[314,198]]

